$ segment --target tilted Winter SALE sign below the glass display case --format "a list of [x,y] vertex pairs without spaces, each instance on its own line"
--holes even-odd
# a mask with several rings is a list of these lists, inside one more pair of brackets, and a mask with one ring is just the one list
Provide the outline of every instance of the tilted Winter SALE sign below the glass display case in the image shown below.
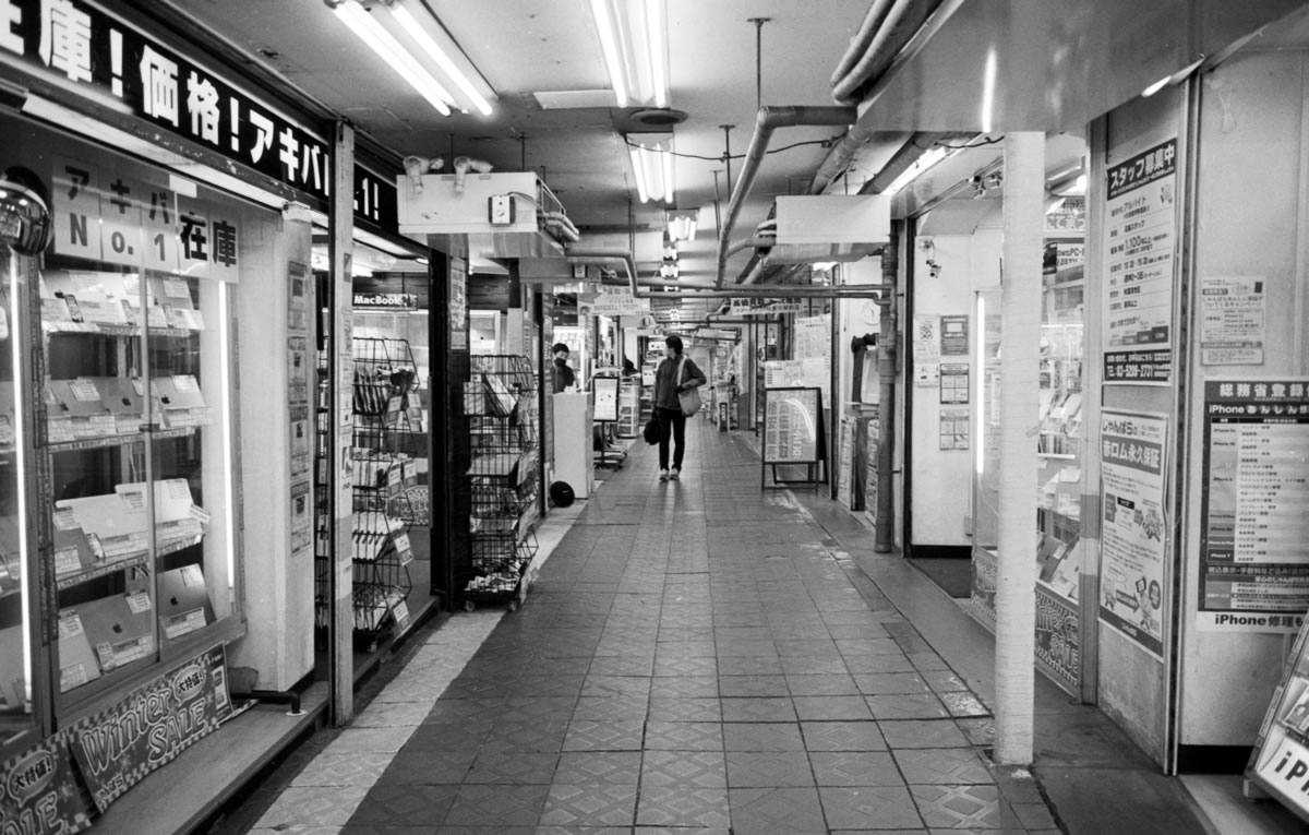
[[114,800],[232,716],[223,645],[80,722],[69,747],[96,805]]

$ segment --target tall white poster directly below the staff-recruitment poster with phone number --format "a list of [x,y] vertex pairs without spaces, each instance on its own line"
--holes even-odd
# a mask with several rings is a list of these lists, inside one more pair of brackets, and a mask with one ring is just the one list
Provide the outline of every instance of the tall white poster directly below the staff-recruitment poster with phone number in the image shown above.
[[1168,423],[1162,415],[1106,408],[1100,432],[1100,501],[1105,516],[1100,619],[1162,657]]

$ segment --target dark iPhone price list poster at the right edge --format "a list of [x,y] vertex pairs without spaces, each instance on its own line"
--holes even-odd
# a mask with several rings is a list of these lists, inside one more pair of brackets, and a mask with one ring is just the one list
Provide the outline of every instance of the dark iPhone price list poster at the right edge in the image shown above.
[[1204,383],[1198,628],[1296,632],[1309,609],[1309,380]]

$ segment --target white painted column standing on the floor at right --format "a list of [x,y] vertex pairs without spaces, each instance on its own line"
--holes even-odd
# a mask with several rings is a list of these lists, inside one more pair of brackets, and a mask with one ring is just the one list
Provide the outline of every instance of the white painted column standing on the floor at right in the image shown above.
[[[1004,139],[1000,539],[996,575],[995,760],[1031,762],[1035,695],[1037,390],[1045,136]],[[980,325],[979,325],[980,326]]]

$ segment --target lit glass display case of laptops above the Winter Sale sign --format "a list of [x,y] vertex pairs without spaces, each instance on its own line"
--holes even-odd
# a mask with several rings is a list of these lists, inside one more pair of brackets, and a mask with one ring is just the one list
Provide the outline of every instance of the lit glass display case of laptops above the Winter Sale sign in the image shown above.
[[[0,120],[0,137],[45,185],[56,225],[42,259],[16,259],[34,279],[7,330],[30,334],[33,383],[18,399],[7,380],[0,410],[34,407],[39,535],[13,563],[50,589],[22,613],[48,630],[42,664],[68,717],[156,662],[240,635],[230,309],[245,233],[276,215],[21,119]],[[24,449],[8,423],[0,479]],[[0,512],[12,504],[7,492]],[[8,555],[14,538],[0,537]],[[20,666],[21,636],[0,640],[12,688],[31,661]]]

